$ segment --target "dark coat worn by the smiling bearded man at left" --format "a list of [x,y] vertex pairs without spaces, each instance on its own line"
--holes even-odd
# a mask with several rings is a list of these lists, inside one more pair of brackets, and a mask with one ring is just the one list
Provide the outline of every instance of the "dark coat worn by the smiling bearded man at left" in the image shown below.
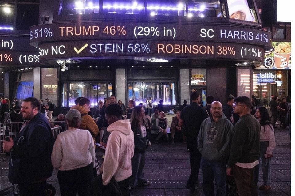
[[40,112],[14,138],[10,153],[9,181],[31,183],[51,176],[54,144],[48,120]]

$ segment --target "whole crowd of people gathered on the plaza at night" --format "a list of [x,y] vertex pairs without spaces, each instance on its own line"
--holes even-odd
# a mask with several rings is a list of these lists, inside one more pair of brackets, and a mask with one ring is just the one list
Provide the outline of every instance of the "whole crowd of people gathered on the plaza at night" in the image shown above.
[[[150,184],[144,177],[144,164],[154,130],[158,133],[154,143],[164,137],[173,144],[176,132],[187,143],[191,174],[186,187],[192,192],[197,189],[200,168],[206,196],[214,195],[214,184],[217,195],[255,196],[257,188],[270,189],[277,112],[285,111],[279,119],[290,118],[290,104],[282,99],[279,106],[274,97],[270,116],[265,107],[254,105],[253,97],[230,95],[222,106],[208,96],[206,108],[199,93],[192,92],[190,98],[191,104],[184,103],[172,118],[170,138],[163,101],[153,111],[151,98],[144,106],[129,100],[127,108],[111,95],[98,103],[92,115],[90,100],[78,97],[66,115],[58,115],[56,120],[65,121],[67,129],[56,139],[49,124],[54,110],[49,98],[47,104],[36,98],[26,98],[21,105],[15,100],[10,117],[25,121],[16,137],[3,143],[3,149],[10,152],[10,182],[19,185],[21,195],[45,195],[52,189],[46,180],[56,168],[61,195],[130,195],[134,187]],[[2,106],[7,104],[3,102]],[[284,123],[290,126],[282,121],[283,128]],[[97,146],[105,149],[100,168]],[[263,184],[257,187],[260,167]]]

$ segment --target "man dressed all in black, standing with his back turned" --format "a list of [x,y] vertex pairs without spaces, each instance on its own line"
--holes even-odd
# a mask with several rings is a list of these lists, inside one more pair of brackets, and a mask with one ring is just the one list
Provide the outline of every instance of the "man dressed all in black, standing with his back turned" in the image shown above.
[[208,117],[208,114],[205,108],[199,106],[201,103],[201,96],[199,93],[195,91],[191,93],[191,102],[189,106],[182,109],[178,126],[182,127],[184,125],[187,131],[187,148],[190,151],[191,174],[187,181],[186,188],[194,192],[197,188],[202,158],[201,153],[197,149],[198,134],[201,123]]

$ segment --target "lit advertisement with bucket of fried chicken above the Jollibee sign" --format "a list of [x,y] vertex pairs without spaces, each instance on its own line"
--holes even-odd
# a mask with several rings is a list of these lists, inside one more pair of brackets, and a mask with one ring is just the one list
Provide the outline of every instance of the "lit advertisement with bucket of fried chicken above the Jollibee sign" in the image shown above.
[[275,50],[256,69],[291,69],[291,42],[272,42],[272,46]]

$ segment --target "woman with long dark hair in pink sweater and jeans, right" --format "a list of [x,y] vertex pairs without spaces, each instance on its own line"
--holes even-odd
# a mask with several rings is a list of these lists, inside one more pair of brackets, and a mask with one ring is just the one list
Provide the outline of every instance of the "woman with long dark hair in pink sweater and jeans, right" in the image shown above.
[[[273,156],[273,150],[276,146],[276,141],[274,138],[273,125],[271,124],[271,119],[269,113],[265,107],[259,107],[256,109],[256,118],[260,123],[260,156],[259,165],[262,168],[262,178],[263,185],[259,187],[261,190],[269,190],[270,186],[270,161]],[[259,176],[259,166],[254,171],[256,175],[256,184],[258,183]]]

